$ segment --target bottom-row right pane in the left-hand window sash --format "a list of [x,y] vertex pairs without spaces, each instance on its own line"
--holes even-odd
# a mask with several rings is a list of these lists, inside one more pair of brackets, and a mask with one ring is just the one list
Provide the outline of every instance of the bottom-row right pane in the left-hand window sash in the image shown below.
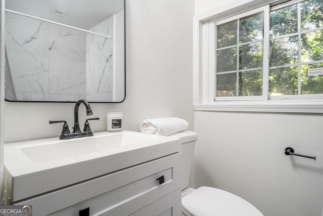
[[262,95],[262,70],[239,73],[239,96]]

